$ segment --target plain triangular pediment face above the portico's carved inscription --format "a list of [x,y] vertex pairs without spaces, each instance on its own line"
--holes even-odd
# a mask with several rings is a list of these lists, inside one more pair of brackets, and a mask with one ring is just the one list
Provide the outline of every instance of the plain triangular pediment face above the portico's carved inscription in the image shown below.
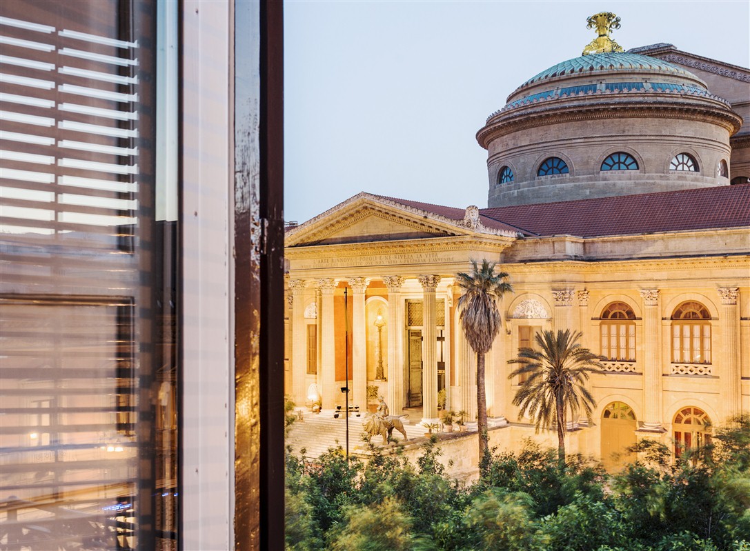
[[457,235],[457,232],[441,228],[435,223],[364,206],[344,213],[317,231],[301,236],[291,246],[400,241],[452,235]]

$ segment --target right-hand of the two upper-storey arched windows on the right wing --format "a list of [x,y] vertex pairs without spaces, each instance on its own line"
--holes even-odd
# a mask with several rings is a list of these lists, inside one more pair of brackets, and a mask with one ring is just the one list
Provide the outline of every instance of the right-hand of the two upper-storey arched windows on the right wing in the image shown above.
[[683,302],[672,313],[672,362],[711,363],[711,314],[700,302]]

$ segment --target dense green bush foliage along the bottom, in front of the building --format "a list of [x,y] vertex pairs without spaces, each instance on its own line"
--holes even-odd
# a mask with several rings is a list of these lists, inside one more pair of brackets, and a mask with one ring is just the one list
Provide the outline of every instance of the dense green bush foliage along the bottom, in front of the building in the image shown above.
[[433,438],[416,465],[371,446],[314,465],[287,454],[287,550],[750,551],[750,418],[671,460],[640,442],[616,475],[526,442],[478,481],[446,474]]

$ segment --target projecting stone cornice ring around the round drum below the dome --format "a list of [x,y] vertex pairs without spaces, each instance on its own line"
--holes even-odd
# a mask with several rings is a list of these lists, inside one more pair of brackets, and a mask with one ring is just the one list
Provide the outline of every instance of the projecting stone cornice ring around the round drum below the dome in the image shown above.
[[[546,124],[561,122],[589,121],[591,119],[613,118],[671,118],[679,120],[703,121],[719,124],[730,134],[736,133],[742,126],[742,118],[729,109],[724,103],[712,104],[706,102],[688,101],[685,103],[667,103],[653,101],[657,99],[656,92],[639,92],[637,101],[628,97],[626,101],[613,103],[610,97],[594,100],[595,94],[589,102],[570,102],[567,98],[554,98],[544,102],[533,103],[531,106],[519,106],[500,112],[487,121],[487,124],[476,133],[476,140],[481,147],[487,149],[489,143],[501,136],[520,130],[529,130]],[[659,94],[661,95],[661,94]],[[598,98],[597,98],[598,99]],[[651,99],[651,101],[649,101]],[[659,98],[661,99],[661,98]],[[692,100],[694,98],[685,98]],[[723,100],[722,100],[723,101]],[[543,105],[540,105],[544,103]]]

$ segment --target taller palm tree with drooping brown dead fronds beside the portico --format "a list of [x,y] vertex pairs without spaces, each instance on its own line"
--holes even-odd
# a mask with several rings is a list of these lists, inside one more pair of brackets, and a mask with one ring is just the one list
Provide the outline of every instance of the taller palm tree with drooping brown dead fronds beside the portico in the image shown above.
[[481,268],[471,261],[471,274],[456,274],[456,283],[463,289],[458,298],[463,333],[476,352],[476,408],[479,433],[479,461],[487,450],[487,396],[484,391],[484,355],[489,352],[500,330],[500,312],[496,301],[513,287],[504,271],[495,273],[494,262],[481,261]]

